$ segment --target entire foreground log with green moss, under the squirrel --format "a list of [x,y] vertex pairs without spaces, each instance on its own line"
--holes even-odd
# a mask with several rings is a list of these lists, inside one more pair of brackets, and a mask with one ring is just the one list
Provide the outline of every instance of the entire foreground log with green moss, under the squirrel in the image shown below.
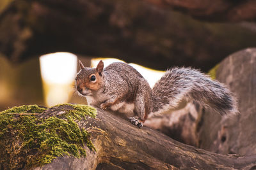
[[[10,133],[8,138],[11,137],[11,141],[4,139],[1,134],[1,148],[4,148],[4,150],[1,150],[1,155],[4,155],[1,158],[1,168],[17,169],[17,167],[22,168],[36,165],[38,165],[36,167],[37,170],[250,169],[256,167],[256,156],[253,155],[239,157],[238,155],[220,155],[207,152],[179,143],[161,134],[161,132],[148,127],[138,129],[138,127],[132,125],[124,118],[116,116],[115,113],[109,113],[100,109],[97,111],[97,118],[86,117],[87,119],[84,119],[82,116],[81,120],[77,119],[76,116],[72,116],[72,114],[76,113],[68,113],[70,110],[74,110],[73,105],[65,104],[49,108],[36,115],[36,120],[45,122],[44,125],[49,125],[49,128],[45,132],[36,131],[32,136],[28,137],[30,140],[27,140],[26,143],[23,142],[23,145],[20,145],[22,143],[20,139],[24,141],[25,136],[21,138],[17,134],[20,129],[24,129],[24,125],[19,124],[19,122],[25,123],[27,125],[26,127],[28,127],[22,131],[33,131],[33,128],[38,128],[33,122],[34,117],[19,116],[6,112],[1,113],[1,116],[7,117],[9,121],[16,121],[17,123],[13,124],[5,121],[8,128],[13,128],[12,124],[21,127],[12,131],[12,133],[6,131]],[[93,108],[88,106],[86,106],[86,110],[86,113],[88,111],[90,113],[95,112]],[[68,117],[72,117],[72,119]],[[63,128],[59,129],[61,126]],[[41,139],[35,139],[35,136],[38,136],[37,133],[47,134],[47,132],[54,131],[52,129],[57,129],[56,133],[58,136],[56,138],[58,139],[55,139],[55,136],[45,136],[45,142],[43,142],[41,147],[31,147],[35,146],[35,144],[39,145],[38,141]],[[88,131],[86,134],[90,133],[90,139],[96,151],[93,149],[93,146],[90,146],[92,143],[88,140],[89,136],[86,139],[83,136],[79,137],[78,134],[83,134],[83,131]],[[55,134],[55,132],[53,133]],[[17,137],[15,138],[15,136]],[[68,141],[68,145],[74,147],[60,146],[61,140]],[[12,145],[12,143],[15,145]],[[85,155],[85,152],[83,152],[83,143],[84,145],[87,143],[87,146],[91,148],[84,148],[86,150],[86,157],[83,157]],[[17,148],[20,148],[20,150]],[[53,148],[54,150],[46,153],[46,151],[49,151],[49,148]],[[52,155],[51,153],[55,153],[56,155]],[[40,159],[36,159],[39,158],[39,155],[42,157],[40,156]],[[24,157],[26,157],[26,160]],[[53,159],[53,157],[58,158]],[[51,158],[51,163],[41,166],[42,162],[47,163]],[[41,160],[41,162],[38,162],[38,160]],[[22,164],[18,164],[18,162]]]

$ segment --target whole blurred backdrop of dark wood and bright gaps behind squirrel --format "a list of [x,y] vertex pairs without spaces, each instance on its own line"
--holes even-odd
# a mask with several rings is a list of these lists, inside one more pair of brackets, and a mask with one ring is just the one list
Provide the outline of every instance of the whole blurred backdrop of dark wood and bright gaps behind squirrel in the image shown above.
[[1,0],[0,111],[86,104],[74,88],[78,60],[133,63],[151,86],[172,66],[207,73],[256,46],[255,20],[250,0]]

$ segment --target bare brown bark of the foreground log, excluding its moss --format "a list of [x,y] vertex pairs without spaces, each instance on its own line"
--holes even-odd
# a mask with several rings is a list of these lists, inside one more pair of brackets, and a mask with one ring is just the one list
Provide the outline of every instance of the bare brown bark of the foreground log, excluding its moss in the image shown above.
[[[44,112],[48,117],[61,106]],[[97,152],[87,157],[61,157],[35,169],[251,169],[256,156],[219,155],[179,143],[148,127],[138,129],[115,114],[98,110],[96,119],[88,118],[80,127],[90,132]]]

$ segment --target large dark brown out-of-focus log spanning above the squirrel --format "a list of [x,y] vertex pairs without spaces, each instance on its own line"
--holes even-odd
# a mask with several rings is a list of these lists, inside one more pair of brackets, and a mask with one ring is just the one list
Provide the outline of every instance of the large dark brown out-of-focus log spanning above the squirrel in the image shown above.
[[255,39],[239,24],[199,22],[136,0],[17,0],[0,15],[0,52],[16,62],[64,51],[208,71]]

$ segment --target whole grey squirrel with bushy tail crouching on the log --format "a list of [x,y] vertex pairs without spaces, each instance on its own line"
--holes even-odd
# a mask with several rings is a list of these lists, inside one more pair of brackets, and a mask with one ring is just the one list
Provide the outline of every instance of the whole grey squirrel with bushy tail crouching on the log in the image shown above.
[[[134,115],[129,121],[143,126],[148,114],[177,108],[183,101],[195,100],[218,111],[220,115],[236,113],[236,99],[218,81],[189,67],[173,67],[166,71],[153,89],[132,66],[114,62],[104,68],[102,60],[96,68],[84,67],[76,76],[76,88],[90,105]],[[104,69],[103,69],[104,68]]]

